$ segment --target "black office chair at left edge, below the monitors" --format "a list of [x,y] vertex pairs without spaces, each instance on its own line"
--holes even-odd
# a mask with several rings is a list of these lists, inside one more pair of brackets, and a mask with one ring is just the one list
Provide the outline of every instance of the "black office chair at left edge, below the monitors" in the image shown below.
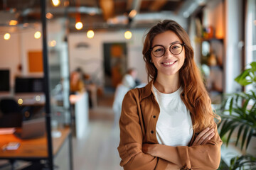
[[13,98],[2,98],[0,111],[0,128],[21,127],[23,120],[21,106],[18,106]]

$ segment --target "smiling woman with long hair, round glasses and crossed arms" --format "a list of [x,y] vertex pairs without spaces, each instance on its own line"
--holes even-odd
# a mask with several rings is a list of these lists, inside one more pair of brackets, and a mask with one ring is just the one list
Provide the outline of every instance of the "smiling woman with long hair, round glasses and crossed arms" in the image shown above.
[[124,169],[218,169],[220,146],[210,98],[185,30],[166,20],[144,41],[149,84],[124,97],[119,120]]

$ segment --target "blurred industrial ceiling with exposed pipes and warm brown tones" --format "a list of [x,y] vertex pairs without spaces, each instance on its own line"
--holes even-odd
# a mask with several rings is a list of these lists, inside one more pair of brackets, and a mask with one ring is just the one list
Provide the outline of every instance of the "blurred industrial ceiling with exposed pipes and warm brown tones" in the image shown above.
[[[40,3],[39,0],[0,0],[0,26],[9,26],[11,19],[20,26],[40,22]],[[76,31],[78,20],[84,24],[82,30],[148,28],[164,18],[188,17],[204,3],[206,0],[60,0],[60,5],[55,7],[52,0],[46,0],[46,13],[52,13],[52,19],[68,18],[71,32]]]

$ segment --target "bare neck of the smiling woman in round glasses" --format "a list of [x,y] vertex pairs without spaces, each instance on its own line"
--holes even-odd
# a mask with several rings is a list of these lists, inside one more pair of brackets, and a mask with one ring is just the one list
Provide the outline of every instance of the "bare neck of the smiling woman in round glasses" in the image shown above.
[[154,86],[163,94],[171,94],[180,87],[178,80],[178,74],[171,76],[158,75],[156,81],[154,81]]

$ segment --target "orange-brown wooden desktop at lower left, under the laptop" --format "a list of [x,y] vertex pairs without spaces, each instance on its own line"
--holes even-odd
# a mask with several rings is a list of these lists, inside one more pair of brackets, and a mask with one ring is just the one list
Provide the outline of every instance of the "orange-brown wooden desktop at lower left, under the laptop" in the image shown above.
[[[53,138],[53,155],[57,154],[63,142],[70,134],[70,128],[58,129],[61,137]],[[16,150],[3,150],[2,147],[9,142],[20,142],[21,145]],[[0,135],[0,159],[29,159],[29,158],[47,158],[47,138],[44,137],[21,140],[15,135]]]

